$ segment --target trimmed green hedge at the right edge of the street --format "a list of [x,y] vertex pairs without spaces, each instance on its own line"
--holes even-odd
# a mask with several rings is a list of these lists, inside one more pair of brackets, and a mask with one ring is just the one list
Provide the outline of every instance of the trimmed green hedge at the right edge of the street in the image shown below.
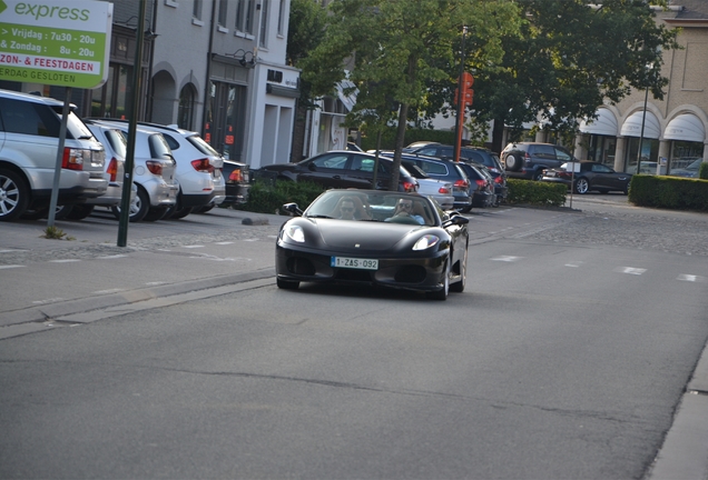
[[638,207],[708,211],[708,181],[636,174],[629,184],[629,201]]

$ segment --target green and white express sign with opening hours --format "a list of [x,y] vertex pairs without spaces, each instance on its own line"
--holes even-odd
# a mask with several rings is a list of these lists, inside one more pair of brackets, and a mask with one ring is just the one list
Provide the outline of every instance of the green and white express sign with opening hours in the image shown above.
[[95,0],[0,0],[0,80],[100,87],[112,11]]

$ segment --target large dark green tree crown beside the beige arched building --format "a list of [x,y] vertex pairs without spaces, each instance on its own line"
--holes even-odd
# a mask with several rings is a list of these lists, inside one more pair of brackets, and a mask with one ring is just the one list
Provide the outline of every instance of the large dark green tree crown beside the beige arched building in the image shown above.
[[541,116],[545,128],[572,138],[577,119],[593,118],[604,100],[618,102],[631,88],[663,98],[661,52],[679,48],[678,32],[657,24],[648,2],[518,3],[521,36],[502,37],[501,62],[480,66],[474,84],[475,113],[494,120],[494,150],[502,149],[504,126],[520,131]]

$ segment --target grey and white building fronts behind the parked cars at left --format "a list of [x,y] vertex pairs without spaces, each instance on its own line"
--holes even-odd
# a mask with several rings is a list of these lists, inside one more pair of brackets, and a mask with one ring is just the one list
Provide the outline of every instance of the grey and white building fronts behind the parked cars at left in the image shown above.
[[[138,120],[195,130],[257,169],[291,157],[299,71],[285,64],[289,0],[114,1],[108,81],[72,91],[82,117],[128,118],[145,8]],[[1,82],[63,100],[63,88]]]

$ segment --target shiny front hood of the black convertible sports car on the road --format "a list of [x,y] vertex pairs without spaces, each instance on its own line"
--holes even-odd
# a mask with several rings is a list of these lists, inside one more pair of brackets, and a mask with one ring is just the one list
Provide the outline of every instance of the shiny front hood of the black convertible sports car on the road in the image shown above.
[[[319,232],[323,244],[336,249],[391,250],[412,234],[430,227],[373,221],[308,219]],[[419,234],[416,234],[419,233]]]

